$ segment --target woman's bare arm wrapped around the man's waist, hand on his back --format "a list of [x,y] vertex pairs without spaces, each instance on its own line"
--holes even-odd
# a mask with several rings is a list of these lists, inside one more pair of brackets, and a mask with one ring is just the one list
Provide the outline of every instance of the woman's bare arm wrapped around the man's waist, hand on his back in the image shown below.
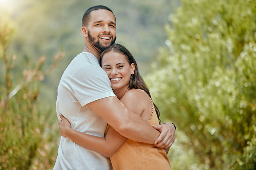
[[63,115],[60,115],[60,118],[63,120],[58,122],[59,133],[61,136],[68,137],[84,148],[96,151],[109,157],[112,156],[127,139],[111,126],[106,138],[82,133],[72,129],[69,121]]

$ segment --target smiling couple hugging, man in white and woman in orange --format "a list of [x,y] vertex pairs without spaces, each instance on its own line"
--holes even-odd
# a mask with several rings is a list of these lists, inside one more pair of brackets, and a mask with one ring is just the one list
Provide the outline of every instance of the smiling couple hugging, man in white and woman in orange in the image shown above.
[[176,127],[159,123],[135,59],[114,44],[113,12],[88,9],[81,34],[84,50],[58,86],[61,139],[53,169],[171,169],[166,153]]

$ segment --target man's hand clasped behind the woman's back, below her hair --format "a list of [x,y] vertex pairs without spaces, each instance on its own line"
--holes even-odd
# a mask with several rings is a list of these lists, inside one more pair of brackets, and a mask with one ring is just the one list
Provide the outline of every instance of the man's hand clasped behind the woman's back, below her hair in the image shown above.
[[156,130],[161,132],[159,137],[155,140],[155,147],[168,148],[172,146],[175,141],[175,127],[172,123],[166,122],[160,125],[152,125]]

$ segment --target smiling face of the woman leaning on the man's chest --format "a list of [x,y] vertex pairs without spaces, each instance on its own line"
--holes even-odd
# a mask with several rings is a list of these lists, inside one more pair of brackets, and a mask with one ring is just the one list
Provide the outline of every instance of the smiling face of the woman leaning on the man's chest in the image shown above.
[[102,68],[108,74],[113,90],[127,88],[134,64],[126,60],[126,56],[117,52],[107,52],[102,58]]

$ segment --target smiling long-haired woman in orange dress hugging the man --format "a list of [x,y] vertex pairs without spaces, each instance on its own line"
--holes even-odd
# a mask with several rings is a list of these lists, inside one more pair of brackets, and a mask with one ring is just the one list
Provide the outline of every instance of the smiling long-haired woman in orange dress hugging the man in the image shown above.
[[[108,74],[113,92],[126,108],[151,125],[159,124],[159,111],[151,100],[131,53],[122,45],[114,44],[101,53],[99,62]],[[59,132],[62,136],[87,149],[110,156],[114,169],[171,169],[162,148],[127,139],[111,126],[107,127],[105,138],[85,134],[73,130],[63,116],[61,119]]]

